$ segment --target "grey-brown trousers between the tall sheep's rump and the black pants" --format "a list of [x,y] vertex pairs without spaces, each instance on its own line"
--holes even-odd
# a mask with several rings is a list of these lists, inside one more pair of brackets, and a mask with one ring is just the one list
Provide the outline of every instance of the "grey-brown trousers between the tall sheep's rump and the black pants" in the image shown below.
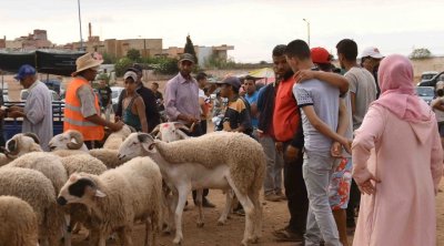
[[282,191],[282,171],[284,160],[282,153],[279,153],[275,147],[273,137],[264,135],[258,137],[266,156],[266,171],[264,180],[264,194],[270,195]]

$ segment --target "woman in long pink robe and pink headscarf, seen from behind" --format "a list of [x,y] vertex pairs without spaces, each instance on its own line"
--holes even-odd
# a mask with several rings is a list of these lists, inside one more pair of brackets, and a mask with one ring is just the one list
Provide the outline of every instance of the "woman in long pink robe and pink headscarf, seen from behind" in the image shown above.
[[353,245],[435,246],[443,151],[434,113],[415,95],[407,58],[386,57],[379,81],[382,95],[352,146],[353,177],[364,194]]

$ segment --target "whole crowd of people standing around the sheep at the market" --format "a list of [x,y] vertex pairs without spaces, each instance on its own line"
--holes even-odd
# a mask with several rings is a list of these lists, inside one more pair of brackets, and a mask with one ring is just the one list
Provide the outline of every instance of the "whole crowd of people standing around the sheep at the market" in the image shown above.
[[[102,61],[87,53],[77,60],[67,88],[63,130],[79,131],[92,148],[104,127],[119,131],[127,124],[151,132],[161,122],[159,111],[194,137],[206,134],[208,120],[221,115],[215,131],[241,132],[263,146],[264,198],[286,201],[290,214],[287,225],[273,232],[276,240],[346,246],[355,230],[353,245],[436,245],[444,82],[431,107],[415,95],[407,58],[384,58],[367,48],[359,63],[357,44],[350,39],[336,44],[341,68],[324,48],[310,49],[302,40],[279,44],[271,54],[275,82],[260,86],[256,78],[228,75],[216,83],[215,99],[208,74],[192,76],[191,54],[181,55],[164,96],[158,83],[145,88],[142,68],[133,65],[123,75],[111,121],[101,116],[111,91],[101,83],[99,100],[90,84]],[[28,100],[0,115],[23,117],[23,132],[34,132],[46,148],[52,137],[48,88],[30,65],[21,66],[16,79],[30,91]],[[202,205],[214,207],[208,194]],[[240,205],[235,211],[243,213]]]

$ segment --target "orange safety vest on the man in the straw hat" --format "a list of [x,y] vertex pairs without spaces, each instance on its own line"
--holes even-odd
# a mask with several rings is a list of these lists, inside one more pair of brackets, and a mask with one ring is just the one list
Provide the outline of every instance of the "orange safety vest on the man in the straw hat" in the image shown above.
[[[67,95],[64,102],[64,122],[63,132],[68,130],[77,130],[82,133],[84,141],[100,141],[104,136],[104,129],[102,125],[94,124],[88,121],[80,111],[80,99],[77,96],[77,90],[79,88],[88,85],[91,88],[88,81],[84,79],[75,78],[70,82],[67,88]],[[91,93],[92,88],[91,88]],[[99,99],[94,93],[94,107],[97,112],[100,112]],[[100,114],[98,114],[100,115]]]

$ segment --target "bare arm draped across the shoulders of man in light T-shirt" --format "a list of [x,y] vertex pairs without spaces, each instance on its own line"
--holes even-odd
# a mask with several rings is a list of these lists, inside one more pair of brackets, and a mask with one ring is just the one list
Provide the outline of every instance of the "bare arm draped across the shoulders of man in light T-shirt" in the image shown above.
[[332,86],[340,89],[341,94],[345,94],[349,92],[349,81],[341,74],[322,71],[301,70],[294,74],[294,78],[296,80],[296,83],[311,79],[316,79],[327,82]]

